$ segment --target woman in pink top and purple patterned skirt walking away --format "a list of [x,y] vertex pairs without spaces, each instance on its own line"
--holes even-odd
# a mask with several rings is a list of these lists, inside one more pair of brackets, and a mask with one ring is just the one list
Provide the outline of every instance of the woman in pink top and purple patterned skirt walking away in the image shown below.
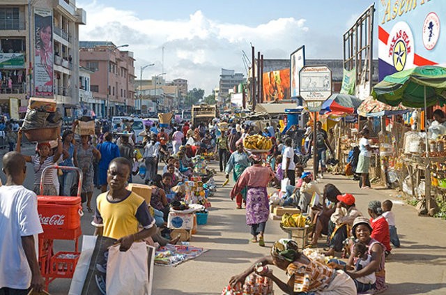
[[[236,185],[231,190],[231,199],[234,199],[243,188],[247,188],[246,224],[251,226],[252,243],[259,242],[259,245],[264,246],[263,233],[270,214],[266,186],[272,179],[275,179],[275,174],[270,166],[261,165],[261,153],[253,153],[252,159],[254,165],[247,167],[240,175]],[[257,239],[257,236],[259,236],[259,239]]]

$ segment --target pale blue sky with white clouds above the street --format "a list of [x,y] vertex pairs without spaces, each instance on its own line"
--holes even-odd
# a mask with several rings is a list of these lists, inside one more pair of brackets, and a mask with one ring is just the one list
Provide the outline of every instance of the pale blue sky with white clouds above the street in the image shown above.
[[[247,74],[243,51],[251,44],[264,59],[289,59],[305,45],[307,59],[342,59],[342,36],[374,1],[367,0],[78,0],[87,24],[79,40],[128,44],[135,75],[166,73],[206,95],[222,68]],[[164,47],[164,63],[163,50]],[[375,57],[377,57],[375,55]]]

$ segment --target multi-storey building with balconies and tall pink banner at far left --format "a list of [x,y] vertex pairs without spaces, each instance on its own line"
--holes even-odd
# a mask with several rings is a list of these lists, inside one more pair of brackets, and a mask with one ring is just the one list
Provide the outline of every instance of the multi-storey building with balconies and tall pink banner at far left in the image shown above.
[[75,0],[0,1],[2,103],[17,98],[26,107],[36,96],[61,110],[78,105],[79,24],[86,13]]

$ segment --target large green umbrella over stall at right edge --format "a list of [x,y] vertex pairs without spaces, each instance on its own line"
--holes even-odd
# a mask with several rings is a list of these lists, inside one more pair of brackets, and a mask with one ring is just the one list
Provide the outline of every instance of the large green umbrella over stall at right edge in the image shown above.
[[426,108],[446,103],[446,68],[419,66],[386,76],[371,95],[392,107]]

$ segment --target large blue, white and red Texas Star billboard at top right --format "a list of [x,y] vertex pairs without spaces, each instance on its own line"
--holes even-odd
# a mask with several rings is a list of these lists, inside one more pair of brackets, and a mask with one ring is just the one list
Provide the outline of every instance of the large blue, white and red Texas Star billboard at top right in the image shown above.
[[444,1],[377,3],[379,80],[415,66],[446,62]]

